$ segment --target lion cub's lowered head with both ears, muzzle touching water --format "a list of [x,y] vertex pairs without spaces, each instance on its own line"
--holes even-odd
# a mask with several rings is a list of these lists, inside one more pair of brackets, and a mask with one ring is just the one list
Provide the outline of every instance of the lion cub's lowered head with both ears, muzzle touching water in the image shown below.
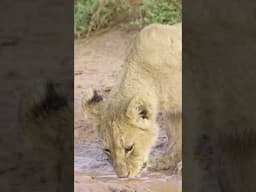
[[118,177],[138,176],[147,166],[158,127],[156,102],[138,94],[129,101],[103,101],[89,89],[82,99],[85,115],[97,123],[102,148]]

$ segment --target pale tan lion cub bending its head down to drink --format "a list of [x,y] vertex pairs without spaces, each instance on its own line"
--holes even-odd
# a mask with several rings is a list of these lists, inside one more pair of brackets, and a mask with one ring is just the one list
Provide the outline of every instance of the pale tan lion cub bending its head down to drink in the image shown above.
[[[181,24],[151,24],[136,37],[120,82],[104,102],[93,90],[83,97],[83,111],[98,122],[103,148],[111,151],[119,177],[138,175],[158,136],[156,115],[167,110],[172,129],[169,163],[181,161]],[[144,116],[144,117],[143,117]],[[134,148],[125,154],[125,147]]]

